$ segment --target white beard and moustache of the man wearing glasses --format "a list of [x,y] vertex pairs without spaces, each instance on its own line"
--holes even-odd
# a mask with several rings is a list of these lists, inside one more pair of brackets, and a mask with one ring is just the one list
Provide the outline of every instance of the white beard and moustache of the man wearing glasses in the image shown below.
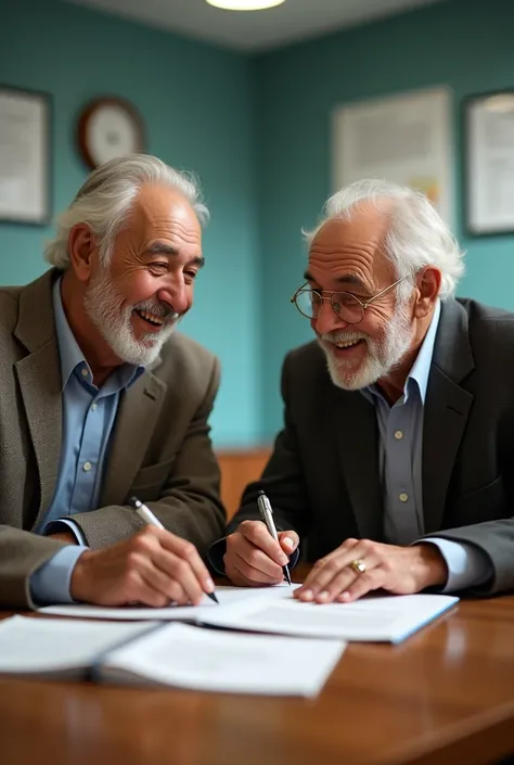
[[[413,329],[409,317],[400,308],[393,316],[380,341],[372,340],[363,332],[342,330],[323,334],[319,343],[323,348],[332,382],[345,391],[360,391],[373,385],[377,380],[386,378],[397,367],[410,348]],[[368,346],[368,354],[357,370],[352,371],[355,364],[337,358],[332,353],[334,343],[363,340]]]

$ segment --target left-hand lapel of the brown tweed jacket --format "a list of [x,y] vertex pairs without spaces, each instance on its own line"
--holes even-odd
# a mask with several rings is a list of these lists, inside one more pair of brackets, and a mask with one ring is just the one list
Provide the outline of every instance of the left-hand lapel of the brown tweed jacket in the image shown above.
[[40,501],[36,525],[55,488],[61,452],[61,365],[52,305],[55,271],[44,273],[20,293],[17,340],[29,354],[15,365],[28,429],[38,464]]

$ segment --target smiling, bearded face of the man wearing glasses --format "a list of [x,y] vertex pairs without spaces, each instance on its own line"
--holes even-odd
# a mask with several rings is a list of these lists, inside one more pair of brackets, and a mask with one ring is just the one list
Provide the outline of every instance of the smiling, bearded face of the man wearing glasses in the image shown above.
[[[310,246],[309,285],[320,292],[349,292],[365,303],[393,284],[397,277],[382,250],[388,221],[387,208],[362,203],[349,222],[325,222]],[[387,378],[412,343],[409,309],[397,305],[393,289],[367,307],[362,321],[349,324],[323,301],[311,327],[333,382],[355,391]]]

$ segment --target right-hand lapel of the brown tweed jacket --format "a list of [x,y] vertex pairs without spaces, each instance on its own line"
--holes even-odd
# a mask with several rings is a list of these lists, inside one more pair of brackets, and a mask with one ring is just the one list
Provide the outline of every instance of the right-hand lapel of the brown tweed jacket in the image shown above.
[[121,505],[155,432],[166,383],[146,371],[121,395],[101,493],[101,507]]

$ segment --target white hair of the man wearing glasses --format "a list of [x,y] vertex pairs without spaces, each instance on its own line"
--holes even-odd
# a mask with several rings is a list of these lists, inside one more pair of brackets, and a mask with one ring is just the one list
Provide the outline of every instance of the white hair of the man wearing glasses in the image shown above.
[[[393,209],[384,205],[389,200],[394,202]],[[309,245],[327,220],[349,221],[363,202],[390,215],[383,242],[384,255],[393,264],[397,278],[404,280],[398,285],[400,298],[408,297],[412,277],[424,266],[436,266],[441,272],[439,297],[453,295],[464,272],[464,253],[436,208],[419,191],[385,180],[350,183],[326,201],[319,226],[304,232]]]

